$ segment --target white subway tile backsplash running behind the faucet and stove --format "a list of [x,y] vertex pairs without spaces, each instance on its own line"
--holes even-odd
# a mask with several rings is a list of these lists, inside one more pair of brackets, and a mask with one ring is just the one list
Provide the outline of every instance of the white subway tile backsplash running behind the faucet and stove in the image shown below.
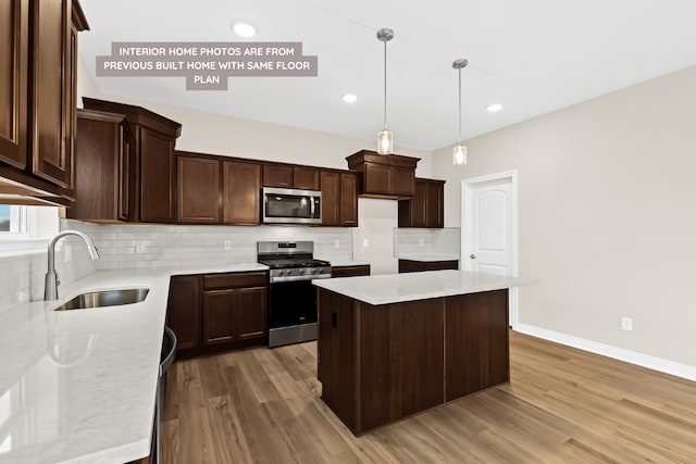
[[[99,269],[252,263],[257,261],[259,240],[313,240],[318,258],[328,261],[352,258],[350,228],[102,225],[61,220],[60,229],[84,231],[100,255],[91,261],[85,243],[77,237],[58,241],[55,269],[63,284]],[[0,313],[42,299],[47,268],[46,251],[1,258]]]

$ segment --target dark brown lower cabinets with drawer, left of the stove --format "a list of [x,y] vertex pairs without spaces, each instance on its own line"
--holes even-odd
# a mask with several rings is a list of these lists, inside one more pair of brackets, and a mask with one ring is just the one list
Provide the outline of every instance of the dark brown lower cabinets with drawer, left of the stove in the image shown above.
[[266,294],[266,272],[172,277],[166,324],[177,358],[264,344]]

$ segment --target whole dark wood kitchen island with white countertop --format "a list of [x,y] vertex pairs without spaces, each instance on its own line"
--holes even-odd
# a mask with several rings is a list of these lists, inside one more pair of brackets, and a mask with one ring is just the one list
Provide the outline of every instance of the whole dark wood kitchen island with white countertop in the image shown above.
[[459,271],[322,279],[322,399],[355,435],[509,380],[508,292]]

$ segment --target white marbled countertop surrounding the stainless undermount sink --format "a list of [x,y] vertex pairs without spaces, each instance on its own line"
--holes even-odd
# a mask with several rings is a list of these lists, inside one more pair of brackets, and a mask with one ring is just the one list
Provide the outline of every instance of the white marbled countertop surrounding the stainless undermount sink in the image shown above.
[[[122,463],[150,454],[172,275],[265,271],[258,263],[99,271],[59,300],[0,314],[0,463]],[[52,311],[74,296],[148,288],[145,301]]]

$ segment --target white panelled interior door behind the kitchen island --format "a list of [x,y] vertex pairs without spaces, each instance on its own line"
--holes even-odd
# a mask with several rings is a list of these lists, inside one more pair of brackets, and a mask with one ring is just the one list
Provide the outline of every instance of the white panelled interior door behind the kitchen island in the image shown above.
[[[517,276],[517,173],[462,180],[462,268]],[[510,290],[515,326],[517,289]]]

